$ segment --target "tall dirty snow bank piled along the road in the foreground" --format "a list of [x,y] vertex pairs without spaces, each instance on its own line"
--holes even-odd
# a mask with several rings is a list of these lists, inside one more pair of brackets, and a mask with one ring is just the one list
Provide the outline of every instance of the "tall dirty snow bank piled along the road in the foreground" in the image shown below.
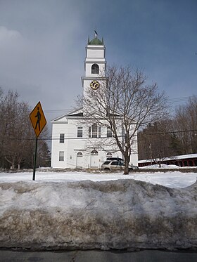
[[197,247],[197,183],[0,183],[0,247]]

